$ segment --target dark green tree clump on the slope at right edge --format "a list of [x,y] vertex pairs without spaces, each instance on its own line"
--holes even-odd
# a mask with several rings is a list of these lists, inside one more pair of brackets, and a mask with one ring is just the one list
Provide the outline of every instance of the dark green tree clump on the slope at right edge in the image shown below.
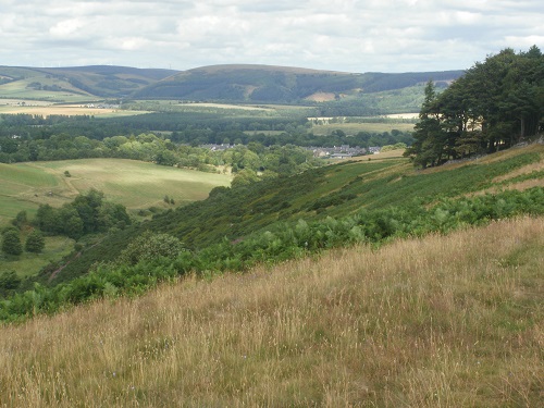
[[425,87],[413,144],[417,165],[440,165],[511,147],[539,133],[544,115],[544,55],[505,49],[475,63],[443,92]]

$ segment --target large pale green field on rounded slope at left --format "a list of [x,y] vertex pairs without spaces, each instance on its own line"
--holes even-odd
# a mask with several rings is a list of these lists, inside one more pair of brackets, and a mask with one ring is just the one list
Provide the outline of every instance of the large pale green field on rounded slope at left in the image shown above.
[[[66,177],[67,171],[71,177]],[[0,164],[0,225],[21,210],[32,215],[40,203],[59,207],[96,188],[128,210],[163,206],[168,195],[176,206],[203,199],[230,176],[124,159],[84,159]]]

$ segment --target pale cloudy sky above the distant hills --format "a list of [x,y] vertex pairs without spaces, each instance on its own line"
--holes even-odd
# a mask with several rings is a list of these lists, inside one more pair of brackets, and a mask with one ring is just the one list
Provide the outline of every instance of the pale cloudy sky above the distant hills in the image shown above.
[[465,70],[544,51],[542,0],[0,0],[0,65]]

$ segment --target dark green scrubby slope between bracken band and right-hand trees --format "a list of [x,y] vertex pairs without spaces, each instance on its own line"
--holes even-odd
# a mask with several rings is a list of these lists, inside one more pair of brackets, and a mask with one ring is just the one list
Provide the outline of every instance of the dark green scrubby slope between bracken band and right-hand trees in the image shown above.
[[[417,211],[438,199],[455,199],[490,188],[544,187],[542,171],[534,171],[534,166],[542,166],[544,162],[542,145],[429,171],[415,171],[406,159],[372,159],[370,161],[343,162],[243,188],[214,189],[205,201],[158,214],[143,225],[88,248],[57,275],[55,282],[78,276],[97,261],[116,258],[146,230],[174,235],[188,249],[198,252],[225,240],[238,243],[265,231],[281,232],[300,219],[319,222],[329,217],[354,215],[363,222],[369,217],[361,213],[363,211],[372,213],[392,207]],[[401,220],[403,215],[383,217]],[[395,228],[387,226],[388,221],[384,223],[386,230]]]

